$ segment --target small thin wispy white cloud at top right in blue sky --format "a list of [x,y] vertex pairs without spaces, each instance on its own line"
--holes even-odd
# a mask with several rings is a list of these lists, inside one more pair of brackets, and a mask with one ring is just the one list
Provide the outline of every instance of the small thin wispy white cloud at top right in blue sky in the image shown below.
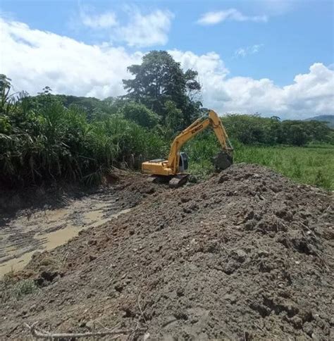
[[197,23],[199,23],[200,25],[216,25],[225,20],[254,21],[266,23],[268,21],[268,18],[267,16],[245,16],[240,11],[237,11],[237,9],[229,8],[225,11],[204,13],[202,17],[197,20]]

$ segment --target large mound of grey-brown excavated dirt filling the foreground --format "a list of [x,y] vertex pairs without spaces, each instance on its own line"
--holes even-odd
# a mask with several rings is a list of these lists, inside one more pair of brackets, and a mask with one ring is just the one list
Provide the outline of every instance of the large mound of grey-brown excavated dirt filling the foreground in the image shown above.
[[328,194],[235,165],[150,198],[37,255],[28,269],[41,288],[3,304],[0,336],[40,321],[141,325],[148,340],[334,338]]

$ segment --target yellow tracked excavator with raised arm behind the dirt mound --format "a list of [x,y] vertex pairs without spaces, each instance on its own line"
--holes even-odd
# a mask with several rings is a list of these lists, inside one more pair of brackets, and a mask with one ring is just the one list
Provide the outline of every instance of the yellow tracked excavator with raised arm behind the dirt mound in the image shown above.
[[221,144],[222,151],[214,158],[217,170],[228,168],[233,163],[233,147],[228,140],[223,123],[213,110],[209,110],[207,117],[198,118],[189,127],[180,132],[171,144],[168,159],[154,159],[142,163],[142,172],[151,175],[152,182],[169,182],[170,187],[180,187],[187,182],[190,175],[185,173],[188,168],[188,157],[180,151],[185,142],[206,128],[211,127]]

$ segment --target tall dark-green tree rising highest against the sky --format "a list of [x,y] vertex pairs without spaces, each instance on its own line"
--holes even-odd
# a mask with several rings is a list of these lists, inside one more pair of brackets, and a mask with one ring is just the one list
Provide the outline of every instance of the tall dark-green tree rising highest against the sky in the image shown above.
[[128,71],[135,77],[123,80],[127,97],[146,105],[161,116],[166,123],[166,101],[173,101],[182,111],[185,125],[198,114],[199,105],[194,94],[201,86],[197,82],[197,71],[183,72],[180,63],[174,61],[167,51],[151,51],[142,58],[141,65],[132,65]]

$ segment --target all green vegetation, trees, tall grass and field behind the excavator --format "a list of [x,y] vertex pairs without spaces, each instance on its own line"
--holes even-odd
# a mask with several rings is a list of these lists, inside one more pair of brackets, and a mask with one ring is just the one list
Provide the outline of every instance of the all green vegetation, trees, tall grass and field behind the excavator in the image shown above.
[[[205,112],[198,101],[197,73],[183,72],[166,51],[152,51],[129,71],[133,78],[123,81],[128,94],[104,100],[54,95],[49,87],[35,97],[15,94],[11,80],[1,75],[0,185],[58,179],[90,184],[111,166],[138,168],[144,159],[166,156],[177,132]],[[223,123],[236,161],[262,163],[333,188],[333,154],[328,153],[333,149],[277,147],[333,144],[326,123],[236,114],[224,116]],[[186,149],[195,173],[211,171],[210,159],[218,150],[213,134],[203,132]]]

